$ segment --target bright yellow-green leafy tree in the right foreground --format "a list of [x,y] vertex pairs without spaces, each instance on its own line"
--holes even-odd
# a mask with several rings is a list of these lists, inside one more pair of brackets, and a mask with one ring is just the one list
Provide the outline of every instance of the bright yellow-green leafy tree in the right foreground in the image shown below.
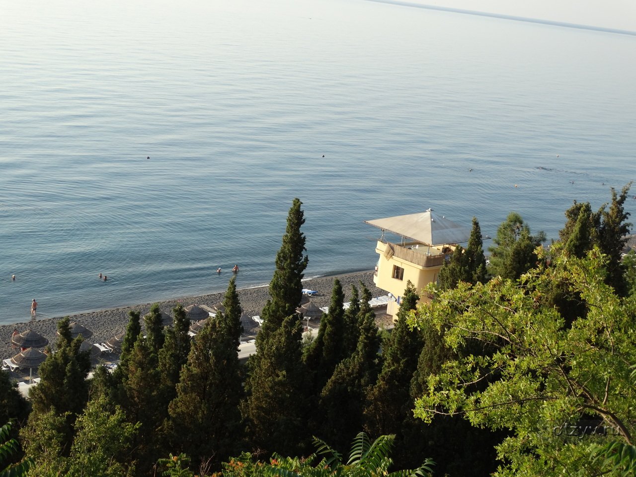
[[[418,417],[430,422],[436,415],[459,414],[479,427],[511,430],[497,446],[502,460],[497,476],[598,471],[588,446],[607,443],[608,436],[561,438],[553,432],[581,418],[602,420],[616,429],[620,442],[633,445],[636,389],[626,363],[636,362],[636,303],[604,283],[606,260],[598,249],[583,259],[558,255],[553,274],[537,268],[520,284],[502,279],[472,288],[460,284],[420,305],[416,322],[444,329],[450,349],[473,340],[496,352],[444,363],[427,380]],[[588,314],[565,328],[554,308],[536,300],[546,280],[560,280],[581,294]]]

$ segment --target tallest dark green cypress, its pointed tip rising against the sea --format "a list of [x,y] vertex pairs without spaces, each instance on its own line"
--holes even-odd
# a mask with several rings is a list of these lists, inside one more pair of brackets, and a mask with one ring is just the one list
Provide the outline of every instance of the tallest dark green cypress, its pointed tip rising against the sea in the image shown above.
[[302,363],[300,315],[303,272],[307,267],[305,223],[300,200],[294,199],[287,229],[276,255],[270,299],[263,308],[263,326],[256,336],[256,354],[249,361],[243,410],[252,446],[283,454],[301,453],[306,445],[305,406],[308,389]]

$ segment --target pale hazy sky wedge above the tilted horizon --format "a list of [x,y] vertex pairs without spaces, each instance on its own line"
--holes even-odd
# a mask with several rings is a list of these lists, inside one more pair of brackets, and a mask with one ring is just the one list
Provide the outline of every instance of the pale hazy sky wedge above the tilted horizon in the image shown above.
[[636,31],[635,0],[406,0],[462,10]]

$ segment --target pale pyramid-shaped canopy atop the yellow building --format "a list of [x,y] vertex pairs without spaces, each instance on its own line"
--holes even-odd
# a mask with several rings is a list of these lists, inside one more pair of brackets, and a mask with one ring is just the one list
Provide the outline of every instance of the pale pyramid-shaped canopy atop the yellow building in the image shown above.
[[461,244],[467,242],[471,235],[466,228],[434,213],[431,209],[417,214],[364,222],[427,245]]

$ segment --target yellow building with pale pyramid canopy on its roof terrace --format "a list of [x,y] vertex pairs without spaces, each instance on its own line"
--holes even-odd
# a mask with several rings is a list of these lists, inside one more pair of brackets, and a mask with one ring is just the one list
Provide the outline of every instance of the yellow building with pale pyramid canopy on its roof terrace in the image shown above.
[[[396,298],[389,301],[387,314],[396,315],[406,282],[413,283],[422,298],[422,289],[436,282],[439,269],[450,258],[455,245],[467,242],[470,231],[435,214],[432,209],[417,214],[366,220],[365,223],[382,230],[375,247],[380,255],[373,281]],[[384,233],[401,237],[399,242],[389,242]]]

